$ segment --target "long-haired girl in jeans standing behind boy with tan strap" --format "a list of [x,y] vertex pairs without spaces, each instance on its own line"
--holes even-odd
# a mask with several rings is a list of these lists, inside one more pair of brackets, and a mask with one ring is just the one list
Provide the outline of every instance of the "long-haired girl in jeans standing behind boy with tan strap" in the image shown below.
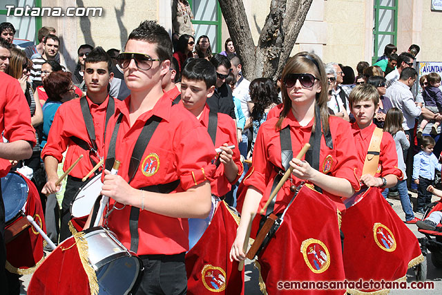
[[[410,147],[407,135],[403,132],[402,128],[403,115],[398,108],[390,108],[385,116],[384,132],[388,132],[393,136],[394,143],[396,144],[396,153],[398,155],[398,168],[403,173],[403,180],[398,180],[395,188],[401,198],[402,209],[405,213],[405,223],[416,223],[418,218],[414,217],[412,210],[412,204],[410,202],[410,196],[408,196],[407,190],[407,175],[405,174],[405,162],[403,161],[403,151],[406,151]],[[384,198],[387,197],[388,189],[383,191]]]

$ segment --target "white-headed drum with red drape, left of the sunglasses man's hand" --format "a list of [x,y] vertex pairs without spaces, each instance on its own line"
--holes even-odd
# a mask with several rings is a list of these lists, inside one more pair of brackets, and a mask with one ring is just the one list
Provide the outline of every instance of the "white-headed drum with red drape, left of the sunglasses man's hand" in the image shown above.
[[83,230],[90,211],[102,191],[102,186],[102,173],[99,173],[84,183],[70,204],[70,215],[72,216],[70,221],[77,231]]

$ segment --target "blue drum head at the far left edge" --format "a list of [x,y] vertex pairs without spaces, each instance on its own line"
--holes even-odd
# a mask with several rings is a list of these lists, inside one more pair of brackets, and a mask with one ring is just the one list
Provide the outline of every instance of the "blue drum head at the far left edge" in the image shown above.
[[15,216],[28,200],[28,184],[19,173],[10,172],[1,178],[1,193],[5,203],[5,221],[14,220]]

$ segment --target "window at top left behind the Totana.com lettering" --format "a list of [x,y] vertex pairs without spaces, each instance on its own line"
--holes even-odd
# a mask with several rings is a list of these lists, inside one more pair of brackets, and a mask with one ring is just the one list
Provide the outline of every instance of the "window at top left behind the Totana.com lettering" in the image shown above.
[[0,23],[3,21],[12,23],[16,30],[14,43],[21,47],[29,46],[31,43],[37,44],[37,31],[41,28],[41,17],[7,17],[6,5],[23,8],[26,6],[41,7],[41,0],[0,0],[0,7],[4,8],[0,9]]

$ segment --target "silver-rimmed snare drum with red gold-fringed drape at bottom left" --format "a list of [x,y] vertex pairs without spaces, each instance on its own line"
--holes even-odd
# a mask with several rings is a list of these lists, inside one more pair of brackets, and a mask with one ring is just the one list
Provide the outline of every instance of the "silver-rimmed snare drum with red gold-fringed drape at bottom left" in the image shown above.
[[[98,294],[135,293],[142,275],[142,261],[103,227],[83,231],[88,260],[95,271]],[[44,260],[30,280],[28,294],[90,294],[86,272],[75,238],[70,237]]]

